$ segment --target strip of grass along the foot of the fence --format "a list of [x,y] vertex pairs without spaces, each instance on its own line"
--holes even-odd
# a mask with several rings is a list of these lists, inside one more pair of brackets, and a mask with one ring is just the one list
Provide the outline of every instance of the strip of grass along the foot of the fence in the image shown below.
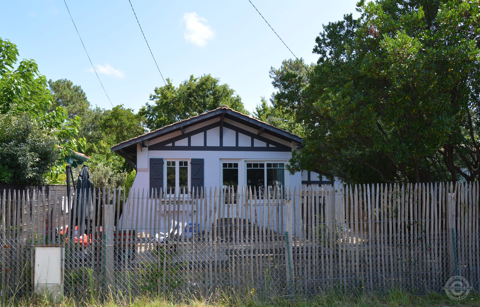
[[309,299],[269,297],[262,298],[253,291],[235,294],[221,291],[209,296],[183,295],[182,297],[162,295],[129,297],[108,297],[104,300],[84,297],[82,300],[64,298],[53,302],[45,296],[27,296],[19,300],[0,303],[0,307],[401,307],[401,306],[475,306],[480,307],[480,294],[470,293],[460,302],[446,295],[431,293],[423,296],[411,296],[394,290],[384,295],[340,295],[326,293]]

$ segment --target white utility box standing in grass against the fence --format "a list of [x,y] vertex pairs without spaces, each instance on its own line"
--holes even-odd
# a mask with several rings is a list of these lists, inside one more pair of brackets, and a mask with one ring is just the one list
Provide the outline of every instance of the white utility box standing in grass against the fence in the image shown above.
[[54,300],[63,297],[64,248],[35,247],[35,293],[51,295]]

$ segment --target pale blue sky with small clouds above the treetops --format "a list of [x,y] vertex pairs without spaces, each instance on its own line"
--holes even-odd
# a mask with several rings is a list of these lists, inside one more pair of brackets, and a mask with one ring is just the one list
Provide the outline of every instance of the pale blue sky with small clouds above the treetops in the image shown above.
[[[268,76],[293,56],[248,0],[131,0],[164,78],[178,86],[191,74],[227,83],[252,111],[274,91]],[[322,24],[355,14],[356,0],[252,0],[288,47],[307,62]],[[114,106],[137,111],[164,85],[128,0],[67,0],[73,20]],[[35,59],[48,79],[66,78],[95,106],[111,108],[63,0],[4,1],[0,37],[20,59]],[[357,15],[355,15],[357,16]]]

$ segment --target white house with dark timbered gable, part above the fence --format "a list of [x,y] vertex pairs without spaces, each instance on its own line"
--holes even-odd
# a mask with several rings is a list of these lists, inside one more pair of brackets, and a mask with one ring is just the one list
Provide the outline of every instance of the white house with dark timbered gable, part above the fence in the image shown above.
[[[178,192],[220,186],[295,187],[285,168],[302,138],[227,106],[121,142],[112,150],[132,165],[133,189]],[[317,178],[318,179],[318,178]]]

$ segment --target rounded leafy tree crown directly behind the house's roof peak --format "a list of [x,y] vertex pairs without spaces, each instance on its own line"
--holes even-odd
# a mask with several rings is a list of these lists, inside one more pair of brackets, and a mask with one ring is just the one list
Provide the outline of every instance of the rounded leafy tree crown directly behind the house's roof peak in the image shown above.
[[170,79],[162,87],[155,88],[155,94],[150,94],[150,100],[139,114],[145,117],[145,125],[149,130],[155,130],[190,118],[204,112],[227,105],[241,113],[248,114],[241,98],[228,84],[219,84],[220,80],[211,75],[203,75],[189,79],[175,87]]

